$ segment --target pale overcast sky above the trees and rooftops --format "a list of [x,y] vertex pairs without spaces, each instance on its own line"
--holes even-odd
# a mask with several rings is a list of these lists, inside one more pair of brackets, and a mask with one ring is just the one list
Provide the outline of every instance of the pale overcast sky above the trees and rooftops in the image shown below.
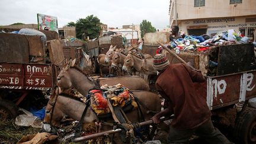
[[37,13],[57,17],[58,27],[88,15],[108,27],[140,24],[148,20],[161,30],[169,25],[169,0],[1,0],[0,25],[37,24]]

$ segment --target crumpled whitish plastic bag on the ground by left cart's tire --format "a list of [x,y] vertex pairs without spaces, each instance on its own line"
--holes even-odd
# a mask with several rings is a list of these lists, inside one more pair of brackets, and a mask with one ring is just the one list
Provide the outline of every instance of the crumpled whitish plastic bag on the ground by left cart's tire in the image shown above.
[[32,113],[30,113],[27,110],[24,110],[23,108],[19,108],[18,111],[22,111],[24,114],[20,114],[15,119],[15,124],[18,126],[32,126],[37,128],[42,128],[43,124],[41,123],[41,120],[39,120],[36,116],[33,116]]

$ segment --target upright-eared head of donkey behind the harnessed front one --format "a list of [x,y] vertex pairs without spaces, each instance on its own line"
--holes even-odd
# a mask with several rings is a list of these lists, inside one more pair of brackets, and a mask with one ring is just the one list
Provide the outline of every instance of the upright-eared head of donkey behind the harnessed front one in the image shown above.
[[71,66],[75,65],[75,59],[72,61],[70,59],[68,63],[65,63],[62,70],[59,72],[57,76],[57,85],[63,89],[69,89],[72,87],[71,76],[69,75],[68,71]]

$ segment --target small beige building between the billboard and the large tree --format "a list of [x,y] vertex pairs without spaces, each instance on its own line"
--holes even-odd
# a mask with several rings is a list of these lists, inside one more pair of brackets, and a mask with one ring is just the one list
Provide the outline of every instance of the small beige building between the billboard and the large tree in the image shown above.
[[69,39],[69,38],[72,38],[72,37],[76,37],[75,27],[64,26],[62,28],[58,28],[58,31],[59,31],[59,38],[60,39]]

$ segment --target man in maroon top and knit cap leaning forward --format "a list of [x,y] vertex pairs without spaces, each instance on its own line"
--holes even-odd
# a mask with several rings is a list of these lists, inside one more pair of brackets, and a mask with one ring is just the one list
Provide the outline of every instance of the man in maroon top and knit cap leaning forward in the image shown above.
[[194,133],[207,143],[231,143],[213,127],[206,98],[194,91],[194,82],[205,81],[201,72],[181,63],[170,65],[167,56],[163,54],[153,58],[153,68],[160,72],[155,86],[167,101],[168,108],[151,119],[153,123],[160,123],[162,116],[174,114],[169,127],[168,143],[187,143]]

